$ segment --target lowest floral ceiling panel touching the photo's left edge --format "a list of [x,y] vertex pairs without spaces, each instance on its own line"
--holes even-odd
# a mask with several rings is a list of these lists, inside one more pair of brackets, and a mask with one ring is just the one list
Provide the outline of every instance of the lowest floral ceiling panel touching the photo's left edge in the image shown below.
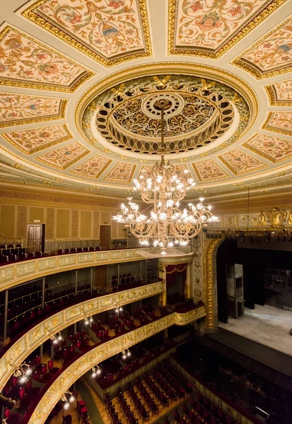
[[26,155],[32,155],[63,141],[72,139],[66,124],[40,126],[38,128],[11,131],[1,136]]

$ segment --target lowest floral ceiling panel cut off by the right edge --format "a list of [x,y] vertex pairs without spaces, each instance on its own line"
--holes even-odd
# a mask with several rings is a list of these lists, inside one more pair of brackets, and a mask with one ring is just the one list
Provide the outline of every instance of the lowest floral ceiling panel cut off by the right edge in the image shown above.
[[255,134],[243,143],[243,146],[252,152],[262,155],[263,158],[271,160],[273,163],[292,158],[291,140],[279,139],[265,134]]

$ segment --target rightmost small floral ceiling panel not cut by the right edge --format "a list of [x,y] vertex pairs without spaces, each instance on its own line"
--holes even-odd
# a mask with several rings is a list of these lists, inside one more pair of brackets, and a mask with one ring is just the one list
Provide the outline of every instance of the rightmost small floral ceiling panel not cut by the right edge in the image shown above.
[[262,160],[254,158],[254,156],[248,155],[238,148],[233,148],[223,155],[219,155],[218,158],[222,160],[224,165],[235,175],[243,175],[247,172],[261,170],[268,166],[266,163],[263,163]]

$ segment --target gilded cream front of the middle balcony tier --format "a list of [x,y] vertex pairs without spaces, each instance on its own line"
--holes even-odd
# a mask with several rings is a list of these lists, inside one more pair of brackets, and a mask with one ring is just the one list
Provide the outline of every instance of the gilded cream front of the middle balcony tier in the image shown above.
[[84,314],[93,315],[105,312],[116,307],[116,305],[127,305],[138,300],[150,298],[163,292],[163,282],[152,283],[144,287],[124,290],[119,293],[100,296],[80,302],[77,305],[66,307],[56,312],[40,324],[35,325],[21,338],[8,348],[0,358],[0,388],[3,389],[7,380],[13,374],[16,365],[20,365],[25,358],[49,338],[49,334],[56,334],[66,329],[69,325],[79,322]]

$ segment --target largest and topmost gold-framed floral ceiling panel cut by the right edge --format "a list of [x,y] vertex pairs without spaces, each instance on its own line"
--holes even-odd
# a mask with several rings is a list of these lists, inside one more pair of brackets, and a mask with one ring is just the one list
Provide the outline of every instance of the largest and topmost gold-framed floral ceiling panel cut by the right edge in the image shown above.
[[257,79],[292,71],[292,16],[264,35],[240,55],[233,64]]

